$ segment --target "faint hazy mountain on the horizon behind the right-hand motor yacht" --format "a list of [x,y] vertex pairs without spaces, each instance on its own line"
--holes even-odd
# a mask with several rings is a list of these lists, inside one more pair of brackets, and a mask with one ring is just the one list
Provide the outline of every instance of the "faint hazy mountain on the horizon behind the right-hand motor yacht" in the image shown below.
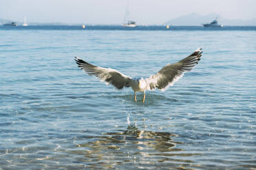
[[242,20],[242,19],[225,19],[218,14],[207,14],[200,15],[196,13],[187,14],[180,16],[175,19],[171,19],[164,23],[164,25],[202,25],[202,23],[211,23],[217,17],[222,25],[235,25],[235,26],[245,26],[245,25],[256,25],[256,19]]

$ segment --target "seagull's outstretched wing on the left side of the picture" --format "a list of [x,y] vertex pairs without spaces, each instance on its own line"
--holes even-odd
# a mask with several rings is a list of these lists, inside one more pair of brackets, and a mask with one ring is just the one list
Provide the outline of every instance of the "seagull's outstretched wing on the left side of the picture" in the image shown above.
[[78,66],[88,75],[95,75],[99,80],[105,81],[106,84],[112,84],[117,89],[122,89],[124,86],[131,86],[131,77],[120,73],[114,69],[105,69],[100,66],[94,66],[85,62],[81,58],[75,57],[74,60]]

